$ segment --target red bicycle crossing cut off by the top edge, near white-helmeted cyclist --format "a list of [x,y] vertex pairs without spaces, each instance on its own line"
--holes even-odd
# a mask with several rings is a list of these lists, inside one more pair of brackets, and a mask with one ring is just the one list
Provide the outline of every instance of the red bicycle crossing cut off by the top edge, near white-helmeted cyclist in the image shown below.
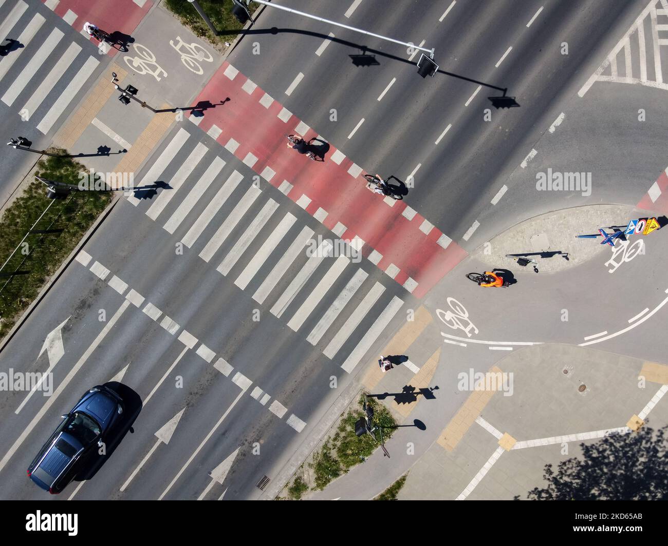
[[[53,13],[81,31],[83,23],[89,21],[110,34],[118,31],[131,35],[153,5],[151,0],[114,0],[95,2],[91,0],[42,0]],[[91,38],[92,39],[92,38]],[[96,42],[97,43],[97,42]],[[110,49],[111,55],[116,49]]]

